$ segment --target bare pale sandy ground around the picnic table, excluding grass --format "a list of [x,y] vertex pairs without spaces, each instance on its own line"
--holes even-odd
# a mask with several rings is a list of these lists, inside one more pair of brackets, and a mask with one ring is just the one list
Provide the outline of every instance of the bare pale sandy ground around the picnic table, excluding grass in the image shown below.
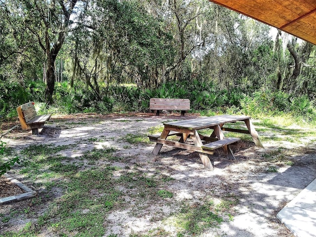
[[[79,144],[76,149],[63,150],[62,155],[79,158],[84,151],[99,147],[117,148],[116,156],[123,157],[124,162],[114,161],[119,167],[135,167],[153,175],[157,170],[175,181],[168,189],[175,194],[177,201],[188,200],[198,204],[199,200],[212,196],[220,198],[226,194],[235,194],[239,203],[234,208],[234,219],[224,221],[220,228],[210,229],[205,237],[291,237],[291,233],[276,219],[277,212],[302,189],[316,178],[316,146],[314,138],[304,137],[304,143],[285,142],[282,140],[263,142],[265,149],[258,148],[253,142],[238,142],[232,146],[236,160],[229,160],[223,151],[217,150],[213,155],[215,169],[205,169],[196,152],[172,149],[163,146],[158,156],[152,154],[154,143],[129,144],[122,140],[126,134],[148,134],[148,128],[161,126],[164,121],[174,119],[196,118],[198,115],[154,116],[148,114],[134,115],[74,115],[53,116],[40,131],[32,136],[31,131],[13,130],[1,140],[14,149],[23,149],[33,144],[69,145]],[[10,124],[11,125],[11,124]],[[257,127],[256,127],[257,128]],[[271,134],[269,134],[271,133]],[[259,136],[282,136],[276,130],[265,131]],[[89,138],[103,138],[103,142],[88,142]],[[313,140],[314,139],[314,140]],[[274,163],[277,172],[268,172],[271,162],[263,159],[278,149],[287,151],[288,159],[294,165]],[[14,170],[11,173],[26,185],[32,186],[30,180]],[[132,192],[132,191],[130,191]],[[56,189],[56,197],[61,193]],[[142,206],[126,194],[126,208],[114,210],[107,217],[108,229],[105,237],[117,234],[128,237],[133,232],[150,230],[153,227],[167,229],[170,236],[175,236],[172,225],[168,227],[161,220],[176,209],[176,206],[164,203],[148,202]],[[29,205],[29,200],[0,206],[5,213],[13,205],[21,209]],[[44,208],[44,207],[43,207]],[[41,210],[42,212],[44,210]],[[7,230],[19,230],[28,219],[12,220],[12,223],[0,223],[0,234]],[[49,236],[49,233],[46,233]],[[45,234],[43,234],[45,236]]]

